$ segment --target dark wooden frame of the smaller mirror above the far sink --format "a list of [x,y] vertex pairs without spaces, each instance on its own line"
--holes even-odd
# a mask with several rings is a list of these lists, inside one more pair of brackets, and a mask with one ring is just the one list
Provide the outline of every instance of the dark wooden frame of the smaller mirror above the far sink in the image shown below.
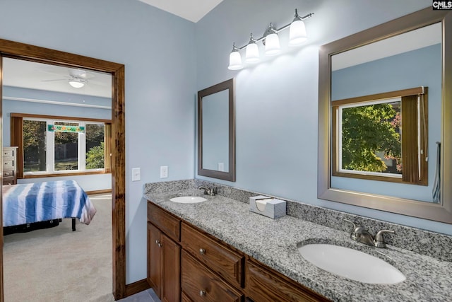
[[[227,172],[208,170],[203,168],[203,98],[220,91],[229,93],[229,165]],[[218,178],[220,180],[235,181],[235,91],[234,79],[210,86],[198,91],[198,175]]]

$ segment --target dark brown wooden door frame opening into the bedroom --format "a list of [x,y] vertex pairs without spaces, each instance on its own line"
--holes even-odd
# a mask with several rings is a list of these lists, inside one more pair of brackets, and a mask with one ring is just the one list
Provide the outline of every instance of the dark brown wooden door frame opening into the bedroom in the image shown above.
[[[3,57],[44,64],[90,69],[112,75],[112,263],[113,296],[116,300],[134,294],[136,285],[126,286],[126,194],[124,65],[70,54],[44,47],[0,39],[0,102],[2,98]],[[1,104],[1,103],[0,103]],[[0,107],[1,108],[1,107]],[[0,110],[1,114],[1,110]],[[3,136],[3,134],[0,134]],[[3,144],[0,145],[0,150]],[[3,219],[0,207],[0,221]],[[3,223],[1,223],[3,225]],[[0,301],[4,301],[3,228],[0,228]],[[143,286],[142,286],[143,287]]]

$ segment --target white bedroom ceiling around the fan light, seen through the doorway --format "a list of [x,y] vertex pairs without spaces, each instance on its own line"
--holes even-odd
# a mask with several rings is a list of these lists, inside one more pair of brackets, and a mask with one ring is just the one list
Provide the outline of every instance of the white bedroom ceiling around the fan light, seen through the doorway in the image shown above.
[[[74,75],[83,75],[86,81],[85,86],[73,88],[69,85],[69,79]],[[110,74],[19,59],[4,58],[3,85],[112,98],[112,76]]]

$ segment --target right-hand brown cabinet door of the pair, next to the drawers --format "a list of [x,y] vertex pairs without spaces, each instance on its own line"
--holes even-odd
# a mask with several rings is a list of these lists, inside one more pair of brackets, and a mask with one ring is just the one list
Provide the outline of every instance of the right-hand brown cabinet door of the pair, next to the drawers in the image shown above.
[[179,302],[181,299],[181,247],[165,234],[162,244],[162,297],[164,302]]

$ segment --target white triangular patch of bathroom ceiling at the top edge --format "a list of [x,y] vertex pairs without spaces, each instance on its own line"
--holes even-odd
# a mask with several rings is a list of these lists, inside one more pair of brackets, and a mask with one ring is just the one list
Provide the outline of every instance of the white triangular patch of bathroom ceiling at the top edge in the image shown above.
[[209,11],[220,4],[222,0],[140,0],[145,4],[155,6],[182,17],[191,22],[198,22]]

